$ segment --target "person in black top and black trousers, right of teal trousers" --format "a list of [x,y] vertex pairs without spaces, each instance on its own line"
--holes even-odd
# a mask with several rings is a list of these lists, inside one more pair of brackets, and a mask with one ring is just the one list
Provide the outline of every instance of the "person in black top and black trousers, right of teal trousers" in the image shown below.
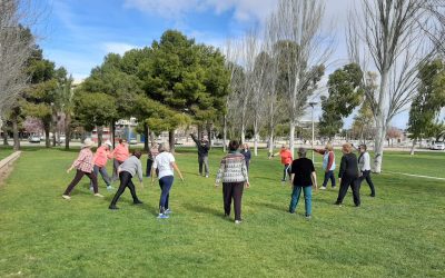
[[335,205],[342,206],[343,199],[345,198],[348,188],[353,189],[354,203],[356,207],[360,206],[360,193],[358,185],[358,162],[357,156],[353,153],[353,146],[350,143],[344,143],[342,151],[340,170],[338,172],[338,181],[340,183],[340,190],[338,191],[338,198]]

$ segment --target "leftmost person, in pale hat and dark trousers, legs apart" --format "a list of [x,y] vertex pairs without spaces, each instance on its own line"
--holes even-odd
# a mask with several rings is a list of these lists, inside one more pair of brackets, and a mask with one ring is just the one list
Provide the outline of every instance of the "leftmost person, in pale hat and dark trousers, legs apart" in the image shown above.
[[102,195],[99,193],[99,189],[97,186],[97,177],[92,172],[93,168],[93,161],[92,161],[92,151],[91,147],[95,145],[95,142],[90,139],[87,138],[83,141],[82,149],[79,152],[78,158],[75,160],[75,162],[71,165],[71,167],[67,170],[67,172],[70,172],[73,168],[76,168],[76,176],[65,190],[62,198],[63,199],[71,199],[70,193],[72,189],[79,183],[79,181],[82,179],[83,176],[87,176],[91,182],[92,182],[92,189],[95,192],[96,197],[103,197]]

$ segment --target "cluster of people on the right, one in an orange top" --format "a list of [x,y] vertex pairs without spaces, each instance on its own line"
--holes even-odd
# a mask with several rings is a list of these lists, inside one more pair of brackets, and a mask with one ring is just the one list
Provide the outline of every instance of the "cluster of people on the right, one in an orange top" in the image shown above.
[[[342,206],[343,200],[347,193],[348,188],[350,187],[353,191],[353,199],[356,207],[360,206],[360,185],[366,179],[366,182],[370,189],[370,197],[375,197],[375,187],[373,180],[370,179],[370,157],[367,152],[366,145],[360,145],[357,150],[359,151],[359,156],[353,152],[355,147],[350,143],[344,143],[342,146],[342,162],[338,171],[338,181],[340,183],[340,188],[338,191],[337,200],[335,205]],[[336,188],[336,180],[334,170],[336,169],[335,165],[335,153],[332,143],[327,143],[325,149],[314,149],[314,151],[323,155],[323,170],[325,172],[324,181],[322,185],[323,190],[327,187],[328,181],[332,181],[333,189]],[[301,191],[304,192],[305,198],[305,210],[306,218],[312,217],[312,188],[317,189],[317,176],[315,172],[314,163],[310,159],[306,158],[306,149],[299,148],[298,159],[293,160],[291,152],[287,149],[286,146],[281,147],[281,150],[277,153],[271,155],[280,156],[281,163],[284,165],[284,176],[281,181],[286,181],[286,178],[289,177],[290,183],[294,186],[289,212],[294,214],[295,209],[298,205],[298,200]]]

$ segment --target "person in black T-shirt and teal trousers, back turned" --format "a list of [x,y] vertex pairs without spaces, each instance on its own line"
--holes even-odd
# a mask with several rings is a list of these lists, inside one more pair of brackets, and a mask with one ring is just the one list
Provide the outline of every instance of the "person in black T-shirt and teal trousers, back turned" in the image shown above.
[[290,183],[294,186],[289,205],[289,212],[295,214],[301,190],[305,195],[306,219],[312,217],[313,187],[317,189],[317,175],[313,160],[306,158],[306,149],[298,149],[298,159],[295,159],[290,167]]

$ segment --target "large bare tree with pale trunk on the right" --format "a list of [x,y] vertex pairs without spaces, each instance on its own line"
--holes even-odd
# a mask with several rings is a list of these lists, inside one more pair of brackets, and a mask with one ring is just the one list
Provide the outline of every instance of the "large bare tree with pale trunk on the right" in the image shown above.
[[368,71],[368,54],[379,75],[375,95],[368,95],[376,122],[374,170],[382,171],[384,142],[390,120],[411,102],[418,83],[417,66],[425,53],[425,1],[365,0],[349,17],[352,60]]

